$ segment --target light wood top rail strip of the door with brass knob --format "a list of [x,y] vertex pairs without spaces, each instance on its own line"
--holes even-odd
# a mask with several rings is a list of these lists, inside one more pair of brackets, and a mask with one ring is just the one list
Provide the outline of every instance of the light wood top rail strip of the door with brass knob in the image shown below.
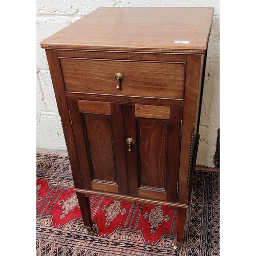
[[169,119],[170,109],[167,106],[135,105],[135,116],[142,118]]

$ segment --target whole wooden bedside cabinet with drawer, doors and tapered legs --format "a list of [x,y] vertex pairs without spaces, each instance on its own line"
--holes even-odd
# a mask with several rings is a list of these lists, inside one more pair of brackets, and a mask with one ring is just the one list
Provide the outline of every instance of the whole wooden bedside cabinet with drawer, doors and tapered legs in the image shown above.
[[99,8],[46,49],[84,225],[91,194],[177,210],[183,244],[214,8]]

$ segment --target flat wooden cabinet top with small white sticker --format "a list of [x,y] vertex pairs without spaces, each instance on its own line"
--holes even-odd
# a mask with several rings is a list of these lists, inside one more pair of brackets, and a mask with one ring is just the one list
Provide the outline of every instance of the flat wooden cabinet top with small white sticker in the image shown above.
[[45,49],[204,53],[213,14],[214,8],[204,7],[102,7],[40,45]]

